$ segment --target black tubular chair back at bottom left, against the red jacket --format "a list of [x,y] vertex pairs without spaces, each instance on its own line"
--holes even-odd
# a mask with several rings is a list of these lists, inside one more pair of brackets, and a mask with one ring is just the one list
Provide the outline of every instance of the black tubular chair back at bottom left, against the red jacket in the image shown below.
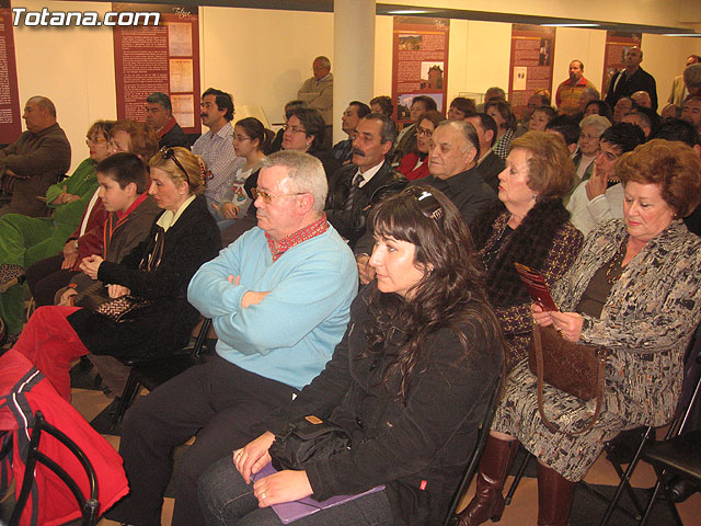
[[[85,474],[88,476],[88,481],[90,483],[89,496],[83,495],[78,483],[56,460],[47,457],[44,453],[39,451],[39,441],[43,433],[47,433],[59,441],[72,455],[76,456],[76,458],[78,458],[83,469],[85,470]],[[22,515],[22,512],[24,511],[27,499],[30,498],[32,484],[34,483],[34,470],[36,467],[36,462],[41,462],[51,471],[54,471],[54,473],[56,473],[56,476],[61,479],[61,481],[64,481],[64,483],[68,487],[70,492],[76,498],[78,505],[80,506],[80,511],[82,514],[81,524],[83,526],[94,526],[95,524],[97,524],[97,511],[100,508],[100,503],[97,501],[97,478],[92,465],[90,464],[90,460],[73,441],[66,436],[61,431],[46,422],[42,412],[37,411],[34,415],[34,428],[32,431],[30,449],[27,458],[25,460],[22,491],[20,492],[20,496],[16,500],[14,511],[12,512],[12,516],[10,517],[9,526],[15,526],[20,524],[20,517]]]

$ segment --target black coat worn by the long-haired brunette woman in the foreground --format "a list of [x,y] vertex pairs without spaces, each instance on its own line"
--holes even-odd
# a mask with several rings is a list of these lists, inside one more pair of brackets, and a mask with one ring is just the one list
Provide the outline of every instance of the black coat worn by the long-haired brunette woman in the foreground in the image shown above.
[[315,414],[353,432],[348,453],[304,465],[314,499],[386,484],[395,525],[440,524],[474,447],[503,350],[476,317],[460,328],[467,358],[456,332],[438,330],[426,340],[404,404],[388,389],[399,378],[382,381],[395,346],[386,345],[379,358],[360,357],[370,287],[354,300],[348,329],[324,370],[264,424],[280,432],[286,422]]

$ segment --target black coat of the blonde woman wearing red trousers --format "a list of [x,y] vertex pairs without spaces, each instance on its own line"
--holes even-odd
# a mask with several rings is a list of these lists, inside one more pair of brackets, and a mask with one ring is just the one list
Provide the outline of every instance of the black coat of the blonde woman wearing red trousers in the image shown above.
[[122,358],[156,356],[187,343],[199,316],[187,301],[187,285],[197,268],[218,254],[221,238],[205,198],[198,196],[165,232],[158,268],[139,271],[139,263],[159,228],[153,222],[148,237],[120,263],[105,261],[97,272],[103,283],[124,285],[135,296],[152,300],[152,306],[135,321],[116,325],[88,309],[68,317],[91,353]]

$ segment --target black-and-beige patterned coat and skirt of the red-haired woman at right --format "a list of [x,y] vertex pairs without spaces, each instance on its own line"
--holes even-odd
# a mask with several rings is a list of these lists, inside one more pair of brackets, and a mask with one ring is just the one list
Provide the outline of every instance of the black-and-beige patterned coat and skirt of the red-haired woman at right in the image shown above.
[[[579,302],[598,268],[613,258],[625,225],[600,225],[555,284],[562,311]],[[623,267],[600,318],[584,316],[581,342],[608,348],[604,408],[596,425],[568,437],[548,430],[538,413],[536,377],[526,362],[509,376],[494,431],[518,438],[526,449],[571,481],[584,478],[604,443],[621,431],[669,422],[681,393],[683,355],[701,319],[701,238],[673,221]],[[596,400],[583,402],[545,385],[544,410],[562,428],[583,428]]]

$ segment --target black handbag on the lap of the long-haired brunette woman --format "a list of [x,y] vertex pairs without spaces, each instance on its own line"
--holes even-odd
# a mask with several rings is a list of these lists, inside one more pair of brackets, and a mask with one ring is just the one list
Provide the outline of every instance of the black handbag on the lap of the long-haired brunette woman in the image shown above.
[[310,414],[296,422],[289,422],[268,449],[273,467],[304,469],[304,464],[313,459],[326,459],[350,449],[350,435],[331,422],[324,422]]

